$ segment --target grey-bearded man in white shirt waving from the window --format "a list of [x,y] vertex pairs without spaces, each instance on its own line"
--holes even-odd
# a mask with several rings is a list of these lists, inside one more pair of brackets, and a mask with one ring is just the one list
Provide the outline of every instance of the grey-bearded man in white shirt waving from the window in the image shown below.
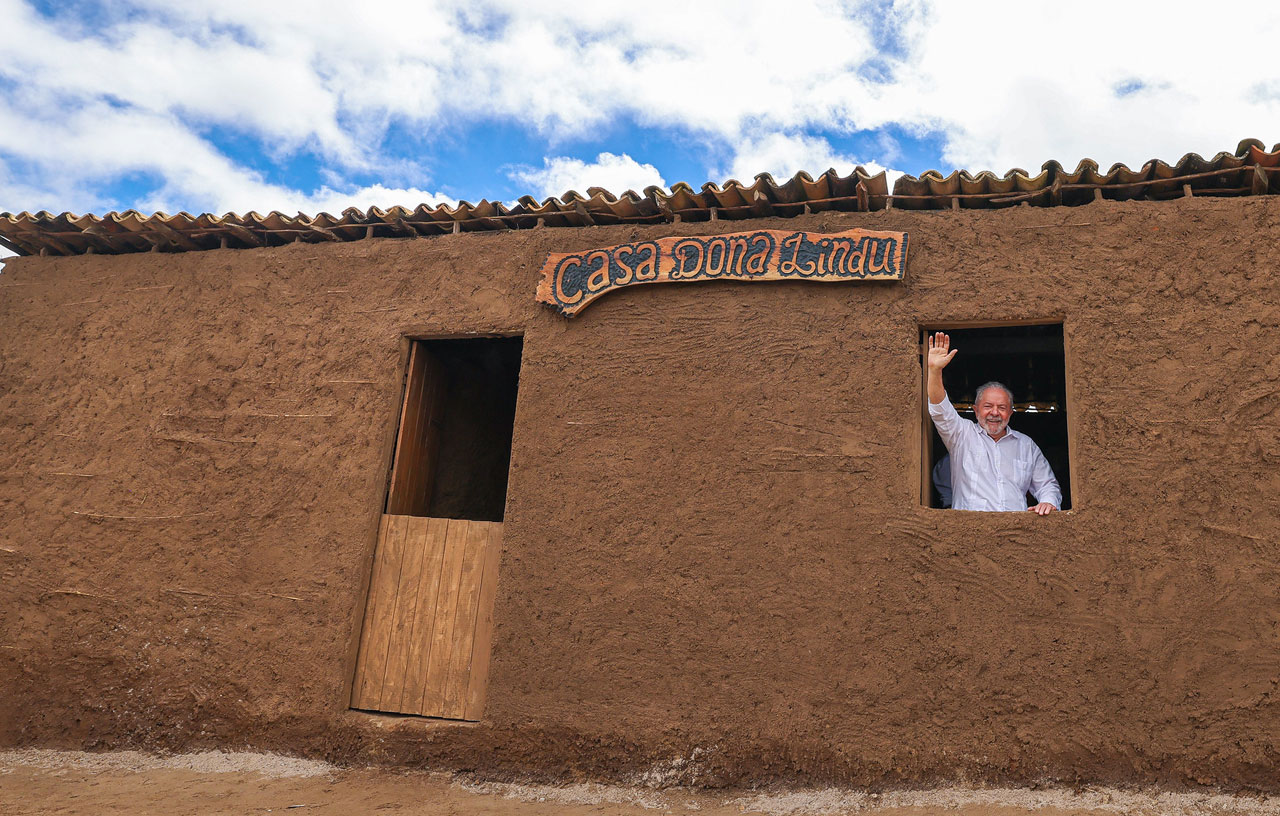
[[[942,370],[959,349],[951,338],[928,338],[929,418],[951,453],[951,506],[956,510],[1034,510],[1046,515],[1062,506],[1062,491],[1044,454],[1029,436],[1009,427],[1014,395],[1000,382],[978,388],[970,422],[956,413],[942,386]],[[1027,494],[1038,504],[1027,506]]]

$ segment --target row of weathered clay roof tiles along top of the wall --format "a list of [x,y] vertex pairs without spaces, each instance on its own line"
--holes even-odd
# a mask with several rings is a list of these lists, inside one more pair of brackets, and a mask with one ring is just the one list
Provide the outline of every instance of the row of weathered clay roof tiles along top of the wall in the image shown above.
[[902,175],[890,191],[887,175],[858,166],[846,175],[828,169],[817,177],[800,171],[778,183],[768,173],[750,184],[727,179],[708,182],[695,191],[677,182],[669,189],[646,187],[621,196],[600,187],[586,194],[566,191],[559,198],[538,201],[521,196],[512,206],[500,201],[456,206],[419,203],[412,208],[347,207],[339,215],[317,212],[243,215],[178,212],[143,214],[137,210],[105,216],[70,212],[0,214],[0,244],[22,255],[81,255],[87,252],[191,252],[218,247],[248,248],[305,242],[347,242],[369,237],[411,238],[453,231],[584,226],[590,224],[659,223],[710,217],[733,220],[794,216],[823,210],[870,211],[886,207],[946,210],[996,208],[1029,203],[1038,207],[1080,206],[1102,197],[1111,200],[1164,200],[1184,194],[1240,196],[1280,193],[1280,145],[1270,151],[1258,139],[1243,139],[1234,153],[1211,159],[1187,153],[1170,165],[1158,159],[1139,169],[1124,164],[1101,173],[1092,159],[1082,159],[1073,171],[1055,160],[1032,175],[1014,168],[1004,175],[989,170],[972,174],[955,170],[943,175],[928,170]]

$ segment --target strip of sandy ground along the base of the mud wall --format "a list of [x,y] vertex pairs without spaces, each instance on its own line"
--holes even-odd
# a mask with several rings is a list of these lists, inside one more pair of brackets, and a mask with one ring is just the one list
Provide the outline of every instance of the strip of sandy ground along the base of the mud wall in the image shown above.
[[0,751],[0,813],[378,813],[404,816],[1069,816],[1280,815],[1280,798],[1103,788],[690,792],[474,783],[447,774],[337,769],[262,753]]

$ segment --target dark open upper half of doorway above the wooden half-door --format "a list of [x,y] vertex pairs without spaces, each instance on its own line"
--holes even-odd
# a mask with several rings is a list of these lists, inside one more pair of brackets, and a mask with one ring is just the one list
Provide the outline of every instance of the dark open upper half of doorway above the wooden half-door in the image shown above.
[[387,512],[500,522],[521,338],[413,340]]

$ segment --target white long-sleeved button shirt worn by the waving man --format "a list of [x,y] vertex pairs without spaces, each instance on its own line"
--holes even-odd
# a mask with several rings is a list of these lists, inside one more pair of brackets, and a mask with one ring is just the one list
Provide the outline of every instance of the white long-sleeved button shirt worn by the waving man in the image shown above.
[[1027,494],[1062,508],[1062,491],[1039,445],[1009,428],[993,440],[961,417],[951,398],[929,403],[929,417],[951,453],[951,508],[955,510],[1025,510]]

